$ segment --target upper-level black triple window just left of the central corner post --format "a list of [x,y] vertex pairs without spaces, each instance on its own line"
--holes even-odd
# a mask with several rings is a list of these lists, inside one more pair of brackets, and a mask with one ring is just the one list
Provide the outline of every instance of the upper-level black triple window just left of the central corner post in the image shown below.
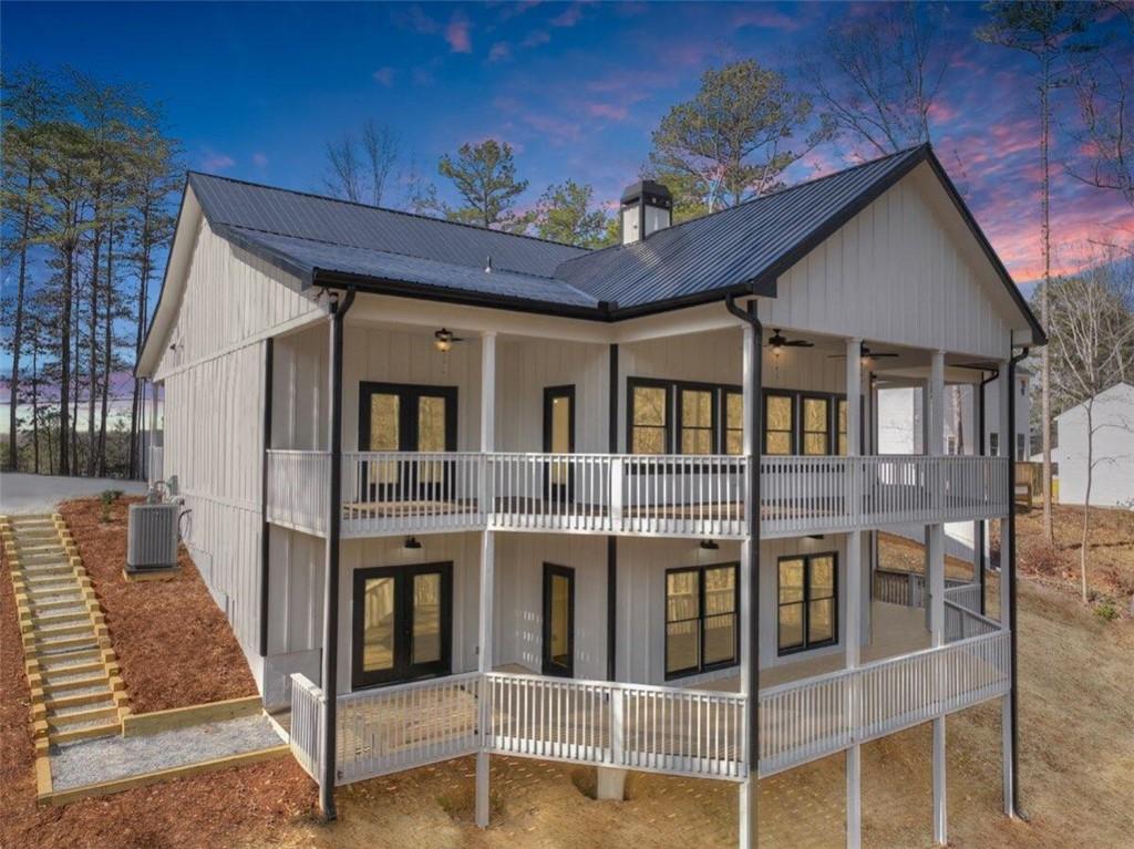
[[736,387],[631,377],[627,444],[640,455],[738,455],[744,398]]

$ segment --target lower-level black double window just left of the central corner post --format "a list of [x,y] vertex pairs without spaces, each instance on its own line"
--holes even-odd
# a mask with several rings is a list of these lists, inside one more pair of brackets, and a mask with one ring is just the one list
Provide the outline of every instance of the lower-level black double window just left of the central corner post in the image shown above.
[[666,678],[736,663],[737,564],[666,571]]

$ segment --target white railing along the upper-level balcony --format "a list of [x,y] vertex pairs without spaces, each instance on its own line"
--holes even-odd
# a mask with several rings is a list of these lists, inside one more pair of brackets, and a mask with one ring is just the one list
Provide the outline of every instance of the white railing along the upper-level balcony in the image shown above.
[[[325,452],[269,452],[269,519],[323,533]],[[1007,513],[1007,458],[765,457],[761,535]],[[748,464],[725,455],[347,452],[344,536],[499,528],[743,537]]]

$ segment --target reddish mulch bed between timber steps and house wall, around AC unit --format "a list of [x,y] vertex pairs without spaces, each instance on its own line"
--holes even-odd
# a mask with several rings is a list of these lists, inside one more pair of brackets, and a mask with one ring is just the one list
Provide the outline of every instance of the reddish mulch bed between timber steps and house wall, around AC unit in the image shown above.
[[110,642],[122,668],[134,713],[254,696],[256,682],[184,546],[177,575],[128,583],[126,515],[136,498],[119,498],[103,523],[98,498],[66,501],[67,520],[99,595]]

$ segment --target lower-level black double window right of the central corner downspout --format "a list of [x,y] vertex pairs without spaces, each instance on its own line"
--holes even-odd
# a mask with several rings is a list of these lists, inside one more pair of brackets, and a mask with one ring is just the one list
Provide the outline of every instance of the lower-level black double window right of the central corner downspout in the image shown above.
[[838,642],[836,577],[833,552],[780,558],[777,580],[780,654]]

